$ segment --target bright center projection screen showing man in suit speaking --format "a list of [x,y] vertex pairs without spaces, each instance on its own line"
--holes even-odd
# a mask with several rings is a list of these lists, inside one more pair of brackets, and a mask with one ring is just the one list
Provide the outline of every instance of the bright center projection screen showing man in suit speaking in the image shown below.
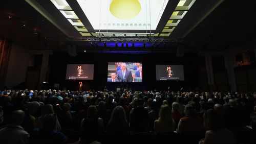
[[141,62],[109,62],[108,82],[142,82]]

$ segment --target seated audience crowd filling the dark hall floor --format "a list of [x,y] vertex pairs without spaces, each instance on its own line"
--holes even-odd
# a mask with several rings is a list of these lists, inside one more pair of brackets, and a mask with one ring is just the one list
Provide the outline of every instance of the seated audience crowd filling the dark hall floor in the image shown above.
[[0,143],[256,143],[256,92],[8,90]]

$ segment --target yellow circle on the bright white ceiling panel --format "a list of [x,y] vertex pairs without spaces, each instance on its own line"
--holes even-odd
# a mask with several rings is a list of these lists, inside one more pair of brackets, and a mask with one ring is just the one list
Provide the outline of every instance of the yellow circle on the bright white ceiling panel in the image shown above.
[[110,12],[118,19],[129,20],[140,13],[141,6],[138,0],[113,0]]

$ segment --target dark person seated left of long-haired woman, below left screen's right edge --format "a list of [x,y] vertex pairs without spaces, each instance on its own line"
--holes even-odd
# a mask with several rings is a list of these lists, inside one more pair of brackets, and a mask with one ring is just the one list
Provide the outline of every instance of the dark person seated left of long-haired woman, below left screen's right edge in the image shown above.
[[82,138],[84,138],[82,141],[85,143],[97,140],[104,130],[103,119],[97,117],[96,111],[96,106],[90,106],[87,110],[87,118],[81,121]]

